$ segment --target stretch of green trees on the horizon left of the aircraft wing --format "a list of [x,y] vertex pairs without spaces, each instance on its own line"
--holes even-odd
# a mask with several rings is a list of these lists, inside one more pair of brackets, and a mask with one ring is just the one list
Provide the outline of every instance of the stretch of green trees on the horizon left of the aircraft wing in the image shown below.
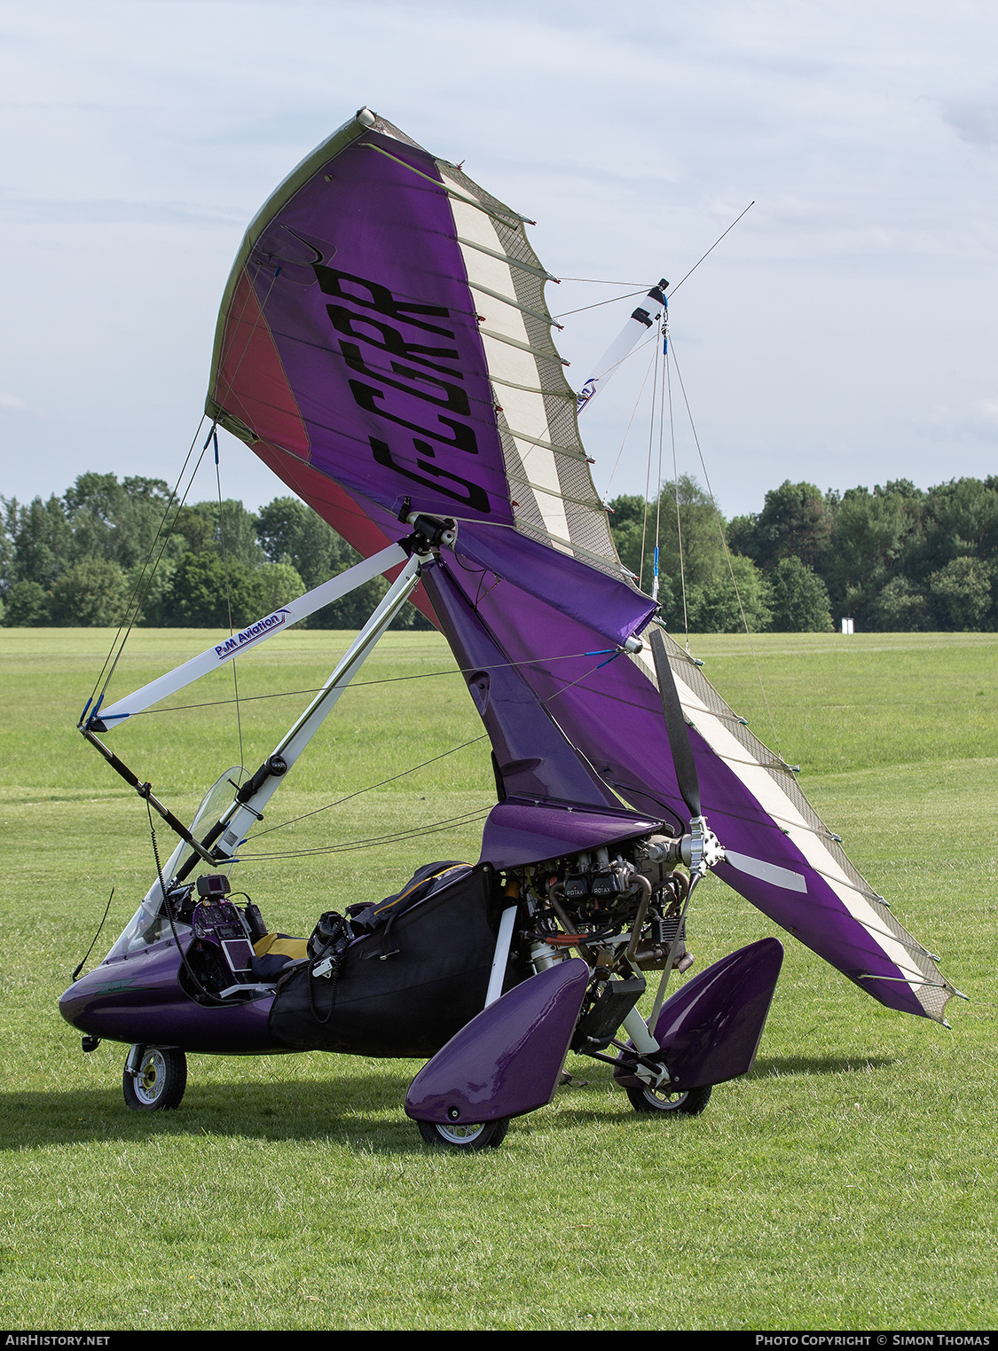
[[[259,512],[234,499],[177,505],[161,478],[81,474],[62,497],[0,504],[7,627],[111,626],[136,613],[150,627],[238,628],[361,557],[297,497]],[[377,577],[305,623],[359,628],[386,590]],[[429,627],[409,603],[392,624]]]

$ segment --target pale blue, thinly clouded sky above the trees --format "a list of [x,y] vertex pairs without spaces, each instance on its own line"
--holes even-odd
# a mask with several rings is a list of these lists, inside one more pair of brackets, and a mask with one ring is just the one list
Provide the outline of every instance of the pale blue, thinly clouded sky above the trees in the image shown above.
[[[627,284],[555,313],[678,281],[754,203],[670,303],[725,515],[997,473],[995,51],[959,0],[1,0],[0,494],[176,478],[243,230],[365,104],[535,219],[555,276]],[[632,307],[562,320],[570,381]],[[582,420],[601,494],[644,490],[647,355]],[[675,436],[702,481],[679,400]],[[231,438],[221,474],[286,492]]]

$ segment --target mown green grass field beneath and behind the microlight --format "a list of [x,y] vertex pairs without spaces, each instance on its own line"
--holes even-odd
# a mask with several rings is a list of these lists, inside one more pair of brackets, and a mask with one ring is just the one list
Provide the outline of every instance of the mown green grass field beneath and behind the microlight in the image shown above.
[[[136,632],[124,693],[209,635]],[[636,1116],[609,1069],[515,1121],[502,1148],[421,1144],[416,1062],[190,1056],[178,1112],[130,1113],[124,1048],[59,1017],[153,875],[145,807],[74,732],[109,642],[0,630],[0,1323],[11,1328],[987,1328],[995,1251],[994,819],[998,635],[752,640],[779,747],[845,848],[970,997],[952,1029],[890,1013],[787,939],[755,1070],[695,1119]],[[240,663],[240,694],[305,690],[347,635],[289,632]],[[705,673],[770,744],[745,639],[695,639]],[[435,634],[389,634],[271,804],[266,838],[350,843],[483,812],[488,742]],[[212,677],[215,678],[215,677]],[[220,674],[177,703],[231,697]],[[248,703],[243,755],[304,696]],[[452,746],[415,774],[382,782]],[[240,759],[231,707],[136,719],[115,747],[180,815]],[[415,843],[240,866],[273,927],[394,892],[421,862],[477,858],[479,825]],[[159,832],[167,846],[167,832]],[[261,840],[259,852],[263,851]],[[247,850],[251,852],[251,850]],[[695,970],[775,931],[710,878]]]

